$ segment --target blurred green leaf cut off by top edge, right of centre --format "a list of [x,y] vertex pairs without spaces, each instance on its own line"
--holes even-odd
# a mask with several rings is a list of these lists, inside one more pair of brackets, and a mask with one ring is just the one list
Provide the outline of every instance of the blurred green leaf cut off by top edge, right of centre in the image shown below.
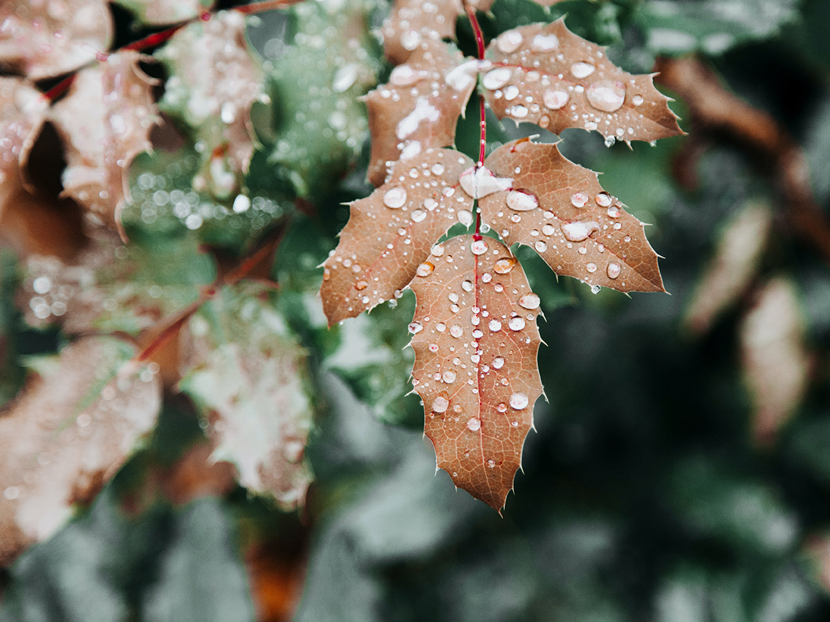
[[637,13],[647,47],[657,54],[720,54],[774,36],[797,16],[795,0],[647,0]]

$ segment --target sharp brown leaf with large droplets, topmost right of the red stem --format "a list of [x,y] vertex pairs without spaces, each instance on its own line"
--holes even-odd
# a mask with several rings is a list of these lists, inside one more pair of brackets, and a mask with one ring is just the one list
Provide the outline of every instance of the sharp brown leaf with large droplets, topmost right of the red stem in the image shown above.
[[652,75],[619,69],[603,46],[574,35],[561,19],[503,32],[486,57],[493,66],[481,83],[499,119],[530,121],[557,134],[595,129],[608,141],[627,143],[681,134]]

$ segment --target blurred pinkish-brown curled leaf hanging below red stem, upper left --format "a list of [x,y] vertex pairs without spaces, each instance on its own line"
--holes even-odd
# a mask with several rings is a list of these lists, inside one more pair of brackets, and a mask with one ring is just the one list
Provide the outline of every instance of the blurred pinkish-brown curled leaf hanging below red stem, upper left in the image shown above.
[[125,171],[149,148],[158,117],[149,78],[136,51],[121,51],[76,75],[50,119],[66,148],[63,184],[94,225],[120,226]]

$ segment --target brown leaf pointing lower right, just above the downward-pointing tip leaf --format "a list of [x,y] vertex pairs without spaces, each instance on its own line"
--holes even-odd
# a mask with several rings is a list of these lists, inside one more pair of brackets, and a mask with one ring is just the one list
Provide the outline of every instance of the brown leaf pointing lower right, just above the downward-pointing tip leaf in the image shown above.
[[507,244],[533,247],[558,275],[619,291],[664,291],[657,253],[642,222],[570,162],[555,144],[520,138],[491,153],[485,167],[509,189],[479,202],[481,219]]

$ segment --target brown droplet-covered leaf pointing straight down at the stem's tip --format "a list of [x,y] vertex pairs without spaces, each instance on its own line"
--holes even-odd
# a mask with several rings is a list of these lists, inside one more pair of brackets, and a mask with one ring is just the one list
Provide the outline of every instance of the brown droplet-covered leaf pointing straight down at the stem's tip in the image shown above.
[[412,283],[413,385],[437,464],[500,510],[521,465],[542,394],[536,364],[539,297],[493,238],[457,236],[432,250]]

